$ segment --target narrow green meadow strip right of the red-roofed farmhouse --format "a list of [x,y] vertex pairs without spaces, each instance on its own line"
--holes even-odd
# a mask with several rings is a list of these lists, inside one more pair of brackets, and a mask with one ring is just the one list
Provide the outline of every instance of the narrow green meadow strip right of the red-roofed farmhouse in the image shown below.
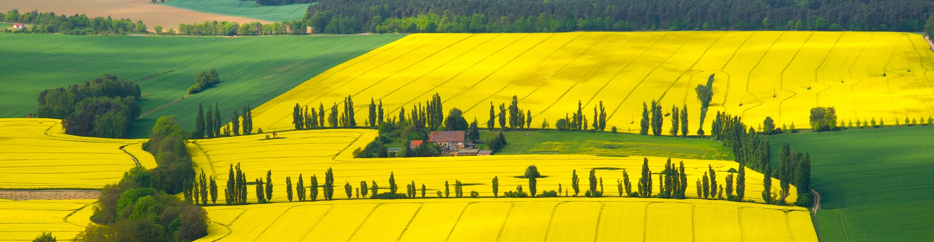
[[[480,140],[487,141],[498,134],[498,131],[483,130],[480,131]],[[503,132],[503,135],[509,144],[502,148],[499,155],[646,155],[689,159],[733,159],[729,148],[710,139],[555,130]]]

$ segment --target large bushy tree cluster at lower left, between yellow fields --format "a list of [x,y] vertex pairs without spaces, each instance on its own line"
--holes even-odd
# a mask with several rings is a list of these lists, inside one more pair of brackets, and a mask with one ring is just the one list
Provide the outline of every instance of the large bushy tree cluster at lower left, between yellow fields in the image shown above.
[[207,212],[172,194],[194,179],[185,137],[174,116],[163,116],[152,128],[144,149],[158,166],[134,167],[117,184],[108,184],[76,241],[191,241],[207,235]]

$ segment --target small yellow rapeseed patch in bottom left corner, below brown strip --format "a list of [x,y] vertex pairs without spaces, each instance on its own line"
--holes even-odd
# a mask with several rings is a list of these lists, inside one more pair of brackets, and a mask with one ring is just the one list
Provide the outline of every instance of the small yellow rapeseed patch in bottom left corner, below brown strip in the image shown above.
[[43,232],[51,232],[59,241],[71,240],[91,222],[95,202],[0,199],[0,242],[32,241]]

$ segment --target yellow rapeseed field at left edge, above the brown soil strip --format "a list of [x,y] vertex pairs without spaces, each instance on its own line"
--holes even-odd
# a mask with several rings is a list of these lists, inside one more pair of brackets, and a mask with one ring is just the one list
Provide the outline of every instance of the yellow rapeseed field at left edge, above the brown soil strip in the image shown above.
[[64,134],[61,121],[47,118],[0,119],[0,188],[99,189],[117,183],[136,164],[156,161],[142,150],[146,140],[116,140]]

